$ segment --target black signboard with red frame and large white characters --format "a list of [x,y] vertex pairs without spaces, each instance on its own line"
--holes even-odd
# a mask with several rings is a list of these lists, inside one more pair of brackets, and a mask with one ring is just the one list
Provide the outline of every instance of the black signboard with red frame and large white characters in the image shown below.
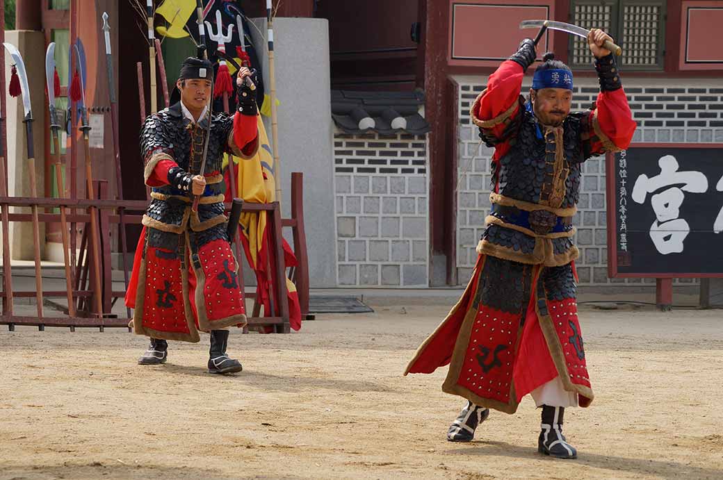
[[723,145],[607,156],[611,277],[723,277]]

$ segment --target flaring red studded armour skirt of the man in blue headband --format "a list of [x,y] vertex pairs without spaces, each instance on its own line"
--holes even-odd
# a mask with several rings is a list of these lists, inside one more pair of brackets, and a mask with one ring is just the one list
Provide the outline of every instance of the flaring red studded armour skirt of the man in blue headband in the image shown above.
[[572,263],[526,265],[480,255],[462,298],[404,373],[449,364],[446,393],[514,413],[524,395],[560,377],[580,406],[594,398]]

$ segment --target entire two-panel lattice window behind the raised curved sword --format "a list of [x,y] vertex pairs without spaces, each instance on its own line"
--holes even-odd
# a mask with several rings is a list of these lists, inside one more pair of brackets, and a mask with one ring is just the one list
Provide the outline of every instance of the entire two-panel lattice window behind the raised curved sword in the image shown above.
[[[662,69],[666,0],[572,0],[570,22],[602,28],[623,48],[618,63],[636,70]],[[593,57],[584,38],[571,36],[570,65],[588,67]]]

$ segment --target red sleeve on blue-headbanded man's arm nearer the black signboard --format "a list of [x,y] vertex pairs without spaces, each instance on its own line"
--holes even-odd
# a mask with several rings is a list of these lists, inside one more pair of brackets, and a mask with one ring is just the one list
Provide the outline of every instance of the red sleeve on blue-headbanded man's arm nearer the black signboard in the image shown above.
[[637,124],[630,112],[625,91],[618,88],[612,92],[600,92],[595,105],[592,124],[603,151],[628,148]]

